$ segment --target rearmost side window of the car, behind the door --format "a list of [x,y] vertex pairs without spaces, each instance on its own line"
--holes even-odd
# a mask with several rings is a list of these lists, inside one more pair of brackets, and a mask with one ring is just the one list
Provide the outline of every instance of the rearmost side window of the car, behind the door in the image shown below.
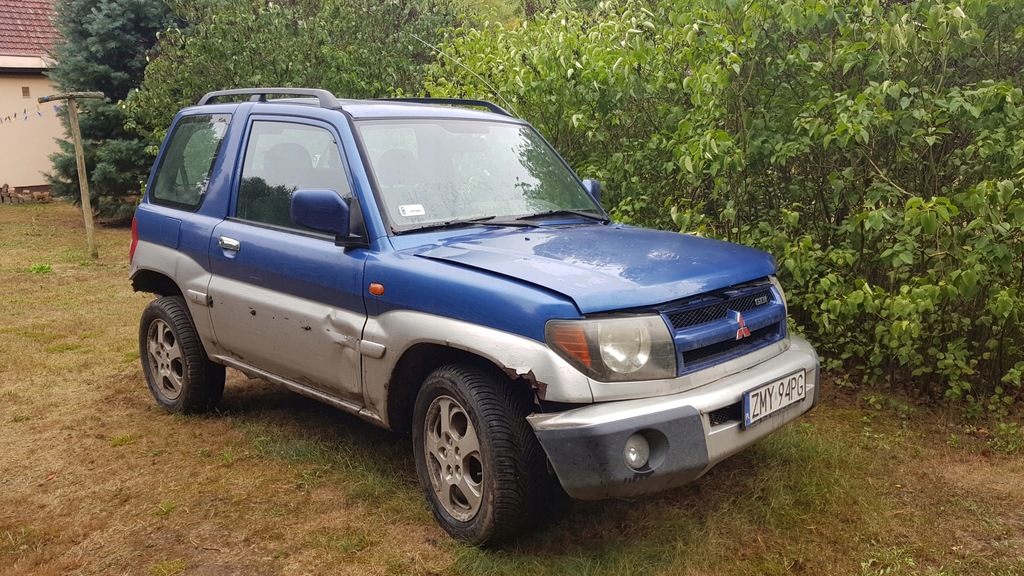
[[157,168],[152,202],[185,210],[199,207],[230,120],[229,114],[204,114],[178,122]]

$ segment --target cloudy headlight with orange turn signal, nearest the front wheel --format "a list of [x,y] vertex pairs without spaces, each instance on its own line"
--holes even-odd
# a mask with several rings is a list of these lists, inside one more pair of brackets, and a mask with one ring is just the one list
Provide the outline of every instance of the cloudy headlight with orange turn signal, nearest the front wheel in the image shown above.
[[601,381],[676,376],[676,347],[660,316],[552,320],[545,339],[584,374]]

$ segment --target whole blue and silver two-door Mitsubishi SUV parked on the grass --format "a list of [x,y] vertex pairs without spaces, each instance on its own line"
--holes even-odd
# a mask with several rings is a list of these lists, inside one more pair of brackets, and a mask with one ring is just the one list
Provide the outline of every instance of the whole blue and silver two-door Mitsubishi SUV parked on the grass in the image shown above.
[[489,102],[211,92],[132,231],[162,407],[214,408],[229,367],[411,433],[434,518],[472,543],[564,494],[683,485],[818,398],[771,256],[610,221]]

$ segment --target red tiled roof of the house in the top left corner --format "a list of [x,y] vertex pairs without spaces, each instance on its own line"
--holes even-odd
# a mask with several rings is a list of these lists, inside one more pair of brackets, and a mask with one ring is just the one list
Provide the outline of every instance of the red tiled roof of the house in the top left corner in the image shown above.
[[0,54],[45,56],[53,48],[53,0],[0,0]]

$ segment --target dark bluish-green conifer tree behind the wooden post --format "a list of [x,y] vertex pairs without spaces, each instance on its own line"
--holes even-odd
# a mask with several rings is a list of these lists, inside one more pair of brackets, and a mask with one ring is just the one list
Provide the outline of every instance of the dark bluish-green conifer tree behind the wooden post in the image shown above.
[[[174,23],[163,0],[56,0],[61,41],[49,76],[59,91],[101,91],[103,100],[80,100],[86,170],[96,215],[124,219],[134,209],[153,163],[146,141],[125,130],[119,102],[141,83],[157,33]],[[78,201],[74,147],[58,142],[47,174],[54,195]]]

